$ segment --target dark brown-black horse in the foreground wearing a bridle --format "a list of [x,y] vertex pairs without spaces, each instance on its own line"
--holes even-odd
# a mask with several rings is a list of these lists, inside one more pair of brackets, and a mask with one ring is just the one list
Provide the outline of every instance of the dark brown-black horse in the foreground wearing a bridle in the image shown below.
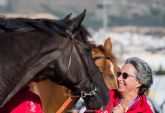
[[81,25],[85,12],[61,20],[0,18],[1,107],[36,78],[65,86],[88,109],[106,107],[108,88]]

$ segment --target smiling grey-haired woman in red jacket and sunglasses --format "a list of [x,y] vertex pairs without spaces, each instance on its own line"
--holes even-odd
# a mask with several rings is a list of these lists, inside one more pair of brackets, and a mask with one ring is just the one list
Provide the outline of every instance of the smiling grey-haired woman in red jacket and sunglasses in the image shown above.
[[117,72],[117,82],[118,89],[110,90],[107,109],[97,113],[153,113],[145,95],[153,83],[152,70],[145,61],[128,58]]

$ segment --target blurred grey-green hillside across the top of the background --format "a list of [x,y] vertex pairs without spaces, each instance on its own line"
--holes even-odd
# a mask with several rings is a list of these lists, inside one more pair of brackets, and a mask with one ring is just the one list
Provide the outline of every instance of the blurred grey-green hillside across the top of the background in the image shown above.
[[87,9],[85,25],[165,27],[165,0],[2,0],[0,13],[51,13],[63,18]]

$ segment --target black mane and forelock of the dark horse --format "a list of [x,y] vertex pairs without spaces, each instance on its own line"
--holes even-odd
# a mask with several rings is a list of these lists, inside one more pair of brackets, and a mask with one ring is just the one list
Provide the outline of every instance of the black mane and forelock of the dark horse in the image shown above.
[[[38,31],[53,35],[53,33],[56,32],[68,37],[66,30],[68,29],[69,24],[70,20],[66,19],[53,20],[44,18],[30,19],[0,17],[0,33]],[[83,25],[80,25],[75,32],[79,32],[79,36],[76,37],[78,40],[90,43],[88,37],[91,35]]]

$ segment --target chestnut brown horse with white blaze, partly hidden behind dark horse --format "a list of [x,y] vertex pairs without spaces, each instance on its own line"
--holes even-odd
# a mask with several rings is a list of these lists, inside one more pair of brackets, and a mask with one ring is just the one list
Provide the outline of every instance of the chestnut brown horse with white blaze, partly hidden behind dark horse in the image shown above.
[[[116,58],[112,53],[110,38],[106,39],[104,45],[92,45],[92,56],[101,70],[108,88],[117,88],[116,72],[118,66]],[[68,89],[55,85],[50,80],[42,80],[30,84],[30,89],[40,96],[45,113],[69,112],[79,98],[70,98]],[[47,91],[45,91],[47,89]],[[51,93],[51,96],[50,96]],[[72,112],[70,110],[70,112]]]

